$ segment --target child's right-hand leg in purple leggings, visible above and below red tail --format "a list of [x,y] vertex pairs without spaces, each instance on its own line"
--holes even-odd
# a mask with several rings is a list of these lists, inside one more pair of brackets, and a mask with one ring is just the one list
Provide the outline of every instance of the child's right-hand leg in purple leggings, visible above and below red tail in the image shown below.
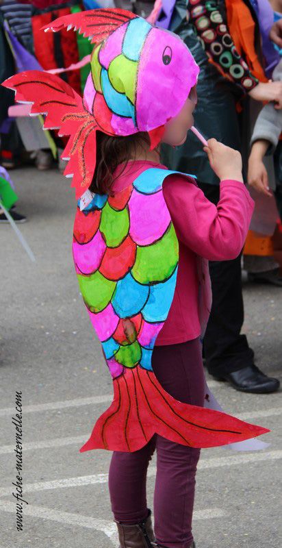
[[[204,405],[205,385],[198,339],[155,347],[153,371],[175,399]],[[157,435],[157,475],[154,493],[155,537],[165,548],[190,548],[196,465],[200,449]]]

